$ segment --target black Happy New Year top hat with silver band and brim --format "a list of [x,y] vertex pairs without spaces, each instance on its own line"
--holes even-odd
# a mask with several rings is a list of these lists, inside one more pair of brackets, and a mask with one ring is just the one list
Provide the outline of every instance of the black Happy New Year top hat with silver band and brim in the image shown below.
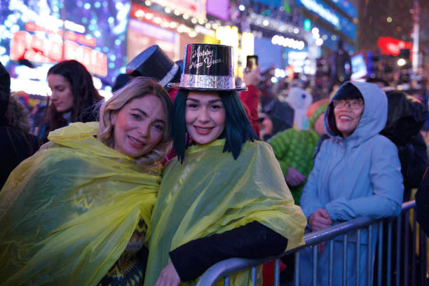
[[167,86],[184,90],[247,90],[236,87],[233,48],[207,43],[186,45],[180,83]]

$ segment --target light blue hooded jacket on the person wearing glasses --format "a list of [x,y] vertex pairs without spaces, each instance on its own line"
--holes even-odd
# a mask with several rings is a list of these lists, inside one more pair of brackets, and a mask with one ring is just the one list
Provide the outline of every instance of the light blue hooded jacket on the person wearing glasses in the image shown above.
[[343,138],[328,123],[338,93],[329,103],[325,112],[329,139],[320,147],[301,196],[307,219],[318,208],[325,208],[333,221],[390,217],[401,210],[404,190],[397,148],[379,135],[387,121],[387,97],[372,83],[351,83],[362,94],[364,111],[355,131]]

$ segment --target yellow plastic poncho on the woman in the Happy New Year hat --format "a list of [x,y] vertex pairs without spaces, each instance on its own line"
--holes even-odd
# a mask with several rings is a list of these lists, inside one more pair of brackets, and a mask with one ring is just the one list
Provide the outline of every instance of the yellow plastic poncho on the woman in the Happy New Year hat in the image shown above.
[[[149,261],[144,285],[154,285],[168,264],[168,252],[197,238],[223,233],[252,221],[289,240],[287,249],[304,244],[306,218],[265,142],[246,142],[237,160],[222,153],[225,140],[189,147],[184,163],[165,166],[148,233]],[[250,284],[247,274],[233,285]],[[194,285],[196,281],[181,285]]]

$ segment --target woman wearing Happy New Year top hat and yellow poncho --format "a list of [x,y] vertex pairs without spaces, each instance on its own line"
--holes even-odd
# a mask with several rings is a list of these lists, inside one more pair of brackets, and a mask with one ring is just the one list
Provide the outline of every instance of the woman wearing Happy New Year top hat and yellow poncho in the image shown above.
[[[179,88],[172,114],[177,159],[165,167],[152,212],[145,285],[192,285],[217,261],[267,257],[304,243],[301,209],[236,95],[244,88],[234,86],[231,52],[186,46],[181,83],[171,84]],[[247,285],[247,272],[233,285]]]

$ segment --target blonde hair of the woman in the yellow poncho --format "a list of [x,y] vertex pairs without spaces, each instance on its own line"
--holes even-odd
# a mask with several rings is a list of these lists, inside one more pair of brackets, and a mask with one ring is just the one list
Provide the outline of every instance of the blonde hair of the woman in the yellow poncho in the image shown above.
[[116,90],[113,97],[102,104],[100,108],[100,125],[98,127],[98,139],[107,146],[114,148],[114,125],[111,124],[112,112],[121,110],[131,100],[147,95],[154,95],[161,100],[167,120],[161,141],[148,154],[136,158],[137,163],[142,167],[161,163],[171,146],[170,108],[172,103],[170,96],[161,85],[153,79],[143,76],[137,76],[132,79],[123,88]]

